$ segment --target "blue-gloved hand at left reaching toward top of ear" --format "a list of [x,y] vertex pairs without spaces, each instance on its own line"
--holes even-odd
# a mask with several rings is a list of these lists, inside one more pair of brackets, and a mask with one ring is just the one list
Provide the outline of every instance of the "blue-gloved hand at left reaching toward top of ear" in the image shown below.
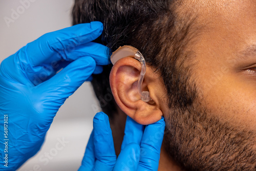
[[47,33],[1,63],[0,170],[15,170],[35,155],[60,106],[109,63],[107,48],[91,42],[102,30],[100,22],[92,22]]

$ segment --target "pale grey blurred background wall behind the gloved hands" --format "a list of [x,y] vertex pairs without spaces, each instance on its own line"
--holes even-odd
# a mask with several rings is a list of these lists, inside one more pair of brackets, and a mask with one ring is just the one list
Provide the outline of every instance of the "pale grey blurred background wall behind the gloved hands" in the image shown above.
[[[20,0],[0,0],[0,62],[42,34],[71,26],[73,0],[21,1],[31,2],[24,8]],[[20,14],[8,26],[4,17],[12,18],[13,10]],[[41,150],[19,170],[77,170],[92,130],[93,116],[99,110],[97,106],[90,83],[84,83],[61,106]],[[60,139],[68,143],[58,150],[55,145]]]

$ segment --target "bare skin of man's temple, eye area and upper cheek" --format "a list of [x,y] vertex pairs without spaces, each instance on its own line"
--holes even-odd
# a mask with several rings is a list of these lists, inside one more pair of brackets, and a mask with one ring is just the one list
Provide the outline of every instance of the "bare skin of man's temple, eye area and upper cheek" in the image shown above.
[[199,11],[212,20],[194,48],[197,65],[193,76],[200,75],[196,82],[205,99],[202,105],[233,126],[246,123],[246,129],[255,132],[256,51],[243,53],[256,48],[256,2],[222,3],[211,4],[207,12]]

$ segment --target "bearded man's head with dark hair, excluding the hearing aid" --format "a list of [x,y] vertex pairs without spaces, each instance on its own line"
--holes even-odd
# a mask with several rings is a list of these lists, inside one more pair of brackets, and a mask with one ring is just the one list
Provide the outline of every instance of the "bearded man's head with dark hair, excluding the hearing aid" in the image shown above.
[[[255,170],[255,7],[254,1],[80,0],[73,21],[99,20],[104,31],[96,41],[112,51],[131,45],[143,54],[143,89],[155,103],[139,99],[141,66],[133,58],[119,60],[111,74],[105,67],[93,81],[96,95],[104,96],[110,75],[127,115],[143,124],[163,115],[164,146],[183,168]],[[107,114],[110,105],[103,106]]]

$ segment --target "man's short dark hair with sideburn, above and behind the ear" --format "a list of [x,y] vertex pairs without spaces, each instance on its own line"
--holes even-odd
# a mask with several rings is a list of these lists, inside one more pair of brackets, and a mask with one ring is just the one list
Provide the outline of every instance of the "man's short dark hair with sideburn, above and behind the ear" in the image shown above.
[[[194,35],[195,17],[179,14],[180,4],[172,0],[76,0],[73,25],[100,21],[104,29],[95,42],[112,52],[123,45],[139,49],[147,65],[160,73],[169,107],[184,109],[196,97],[196,89],[187,87],[189,67],[183,65],[192,54],[186,47]],[[92,85],[102,111],[113,117],[115,100],[104,98],[110,93],[111,68],[104,66],[102,74],[94,75]]]

